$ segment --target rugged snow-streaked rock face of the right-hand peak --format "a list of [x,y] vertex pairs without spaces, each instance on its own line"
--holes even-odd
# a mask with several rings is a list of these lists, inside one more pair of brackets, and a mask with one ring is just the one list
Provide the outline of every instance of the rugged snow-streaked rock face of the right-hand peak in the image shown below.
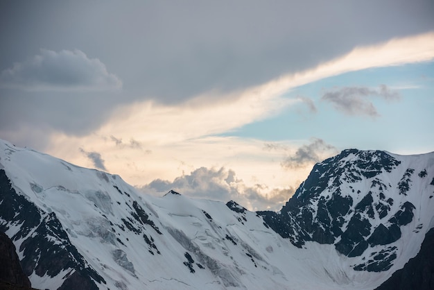
[[[383,151],[342,151],[315,164],[280,212],[260,214],[299,248],[306,241],[333,244],[347,257],[364,255],[363,263],[354,264],[356,271],[388,270],[397,258],[393,243],[401,238],[401,228],[415,223],[417,198],[408,194],[418,194],[415,183],[428,180],[425,168],[416,172],[409,167],[413,164],[401,164],[397,157]],[[424,199],[431,200],[428,195]],[[423,226],[416,225],[415,231]]]

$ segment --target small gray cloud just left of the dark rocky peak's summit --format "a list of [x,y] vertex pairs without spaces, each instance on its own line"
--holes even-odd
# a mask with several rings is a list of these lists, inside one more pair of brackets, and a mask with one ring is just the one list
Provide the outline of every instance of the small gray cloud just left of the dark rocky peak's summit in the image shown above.
[[301,146],[293,155],[287,156],[281,162],[281,167],[286,169],[297,169],[306,165],[322,161],[320,155],[324,153],[336,153],[336,148],[327,144],[322,139],[313,138],[310,144]]

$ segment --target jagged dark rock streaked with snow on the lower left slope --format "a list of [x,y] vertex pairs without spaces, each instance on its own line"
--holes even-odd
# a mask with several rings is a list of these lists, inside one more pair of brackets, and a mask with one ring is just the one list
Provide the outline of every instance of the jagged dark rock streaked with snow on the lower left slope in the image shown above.
[[[55,213],[43,212],[24,196],[17,194],[3,169],[0,169],[0,201],[0,221],[3,221],[0,231],[5,232],[8,223],[22,224],[11,239],[17,241],[24,238],[19,251],[23,252],[21,266],[25,275],[35,272],[41,277],[54,277],[61,271],[71,269],[64,283],[71,285],[78,281],[79,284],[76,285],[80,287],[84,284],[83,280],[86,280],[89,285],[87,289],[98,289],[95,282],[105,284],[101,275],[87,264],[71,244]],[[52,241],[53,238],[55,242]]]

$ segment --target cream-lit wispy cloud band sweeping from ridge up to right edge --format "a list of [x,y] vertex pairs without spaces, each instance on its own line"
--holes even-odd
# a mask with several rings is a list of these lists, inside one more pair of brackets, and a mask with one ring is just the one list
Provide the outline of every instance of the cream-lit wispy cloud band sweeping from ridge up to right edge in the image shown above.
[[[52,147],[47,151],[86,166],[88,158],[74,151],[82,144],[98,148],[98,152],[105,153],[107,169],[121,173],[133,185],[144,185],[157,178],[173,180],[184,170],[192,172],[200,167],[225,167],[236,171],[248,187],[267,184],[270,191],[284,185],[296,187],[297,181],[305,178],[310,170],[300,167],[300,164],[328,157],[329,151],[333,151],[329,144],[314,139],[297,151],[299,146],[288,141],[278,146],[266,146],[272,150],[264,150],[266,140],[216,135],[228,135],[236,128],[279,114],[284,108],[303,101],[284,97],[291,87],[347,71],[433,58],[434,33],[361,47],[308,71],[282,76],[243,91],[225,95],[209,92],[178,105],[152,101],[125,105],[92,134],[71,136],[55,133],[51,139]],[[376,91],[381,92],[381,89]],[[382,94],[388,96],[389,93],[385,90]],[[131,142],[123,141],[132,138],[143,148],[152,150],[152,154],[138,154]]]

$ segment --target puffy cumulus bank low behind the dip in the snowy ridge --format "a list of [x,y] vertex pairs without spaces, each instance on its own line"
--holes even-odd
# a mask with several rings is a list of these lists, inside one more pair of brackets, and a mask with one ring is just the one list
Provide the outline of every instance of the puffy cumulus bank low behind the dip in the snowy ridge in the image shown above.
[[156,179],[140,188],[146,194],[163,195],[173,189],[186,196],[214,201],[236,201],[249,210],[279,210],[294,194],[293,187],[269,189],[266,185],[248,187],[231,169],[200,167],[173,182]]

